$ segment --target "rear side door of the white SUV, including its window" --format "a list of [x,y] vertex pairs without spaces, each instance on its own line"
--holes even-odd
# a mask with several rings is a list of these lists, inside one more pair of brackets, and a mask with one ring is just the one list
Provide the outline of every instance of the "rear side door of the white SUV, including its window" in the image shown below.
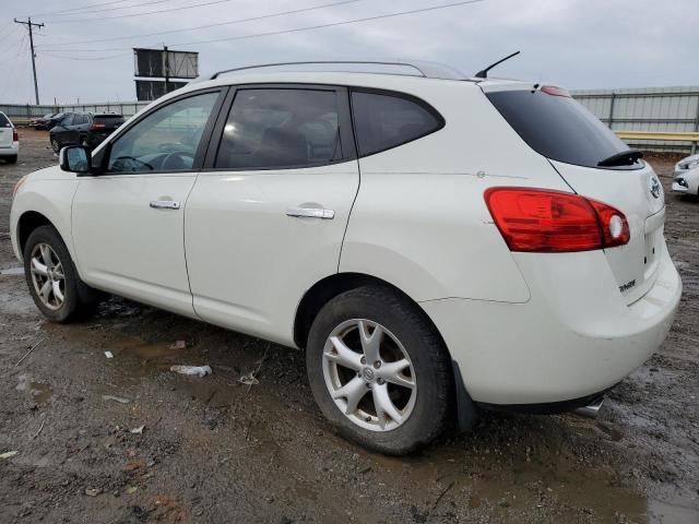
[[223,117],[217,154],[187,204],[194,309],[209,322],[293,344],[304,293],[337,272],[359,186],[347,93],[246,86]]

